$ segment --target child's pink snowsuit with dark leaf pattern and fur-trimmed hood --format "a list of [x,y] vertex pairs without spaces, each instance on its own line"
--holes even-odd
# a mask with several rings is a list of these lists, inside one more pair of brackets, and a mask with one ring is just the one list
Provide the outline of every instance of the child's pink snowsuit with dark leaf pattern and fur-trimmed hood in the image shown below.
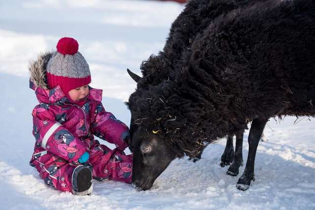
[[[45,61],[45,58],[40,58]],[[39,60],[40,61],[40,60]],[[38,61],[38,63],[39,63]],[[31,74],[45,70],[33,65]],[[41,72],[41,73],[42,73]],[[61,191],[71,192],[71,176],[80,163],[78,159],[89,152],[96,180],[117,180],[131,183],[132,154],[126,155],[125,139],[128,127],[106,112],[102,103],[102,90],[90,88],[83,105],[69,103],[59,86],[48,90],[36,86],[43,81],[31,75],[30,88],[35,90],[38,104],[32,111],[35,147],[30,165],[35,167],[45,183]],[[44,78],[44,77],[42,77]],[[110,150],[99,144],[94,136],[116,145]]]

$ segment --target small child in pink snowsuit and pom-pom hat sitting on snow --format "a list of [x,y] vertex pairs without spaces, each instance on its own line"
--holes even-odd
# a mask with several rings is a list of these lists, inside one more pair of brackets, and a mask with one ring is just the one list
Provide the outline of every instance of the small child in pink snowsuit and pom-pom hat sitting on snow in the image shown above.
[[[75,195],[91,194],[92,177],[131,183],[128,127],[104,110],[102,90],[88,86],[91,74],[79,44],[64,37],[57,52],[31,62],[30,87],[39,101],[33,112],[35,148],[30,165],[45,183]],[[116,145],[110,150],[94,136]]]

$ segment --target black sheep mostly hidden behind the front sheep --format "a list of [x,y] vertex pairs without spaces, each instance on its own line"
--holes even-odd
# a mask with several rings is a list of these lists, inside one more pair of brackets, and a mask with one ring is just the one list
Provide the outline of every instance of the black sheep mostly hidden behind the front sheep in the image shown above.
[[[209,0],[190,1],[184,11],[172,24],[163,52],[160,52],[158,56],[151,56],[149,60],[142,63],[140,68],[143,70],[142,73],[145,77],[141,83],[139,83],[139,85],[144,84],[144,87],[141,88],[145,88],[148,84],[158,85],[162,79],[168,79],[169,71],[175,68],[176,63],[181,59],[182,52],[190,49],[195,36],[207,28],[209,22],[233,9],[252,5],[258,1],[265,0],[213,0],[210,2]],[[128,73],[136,81],[140,79],[140,77],[134,75],[132,72],[128,71]],[[136,129],[136,126],[132,124],[132,121],[133,120],[131,119],[131,136]],[[238,175],[238,168],[243,165],[243,134],[240,134],[241,132],[242,130],[238,131],[236,135],[236,155],[234,156],[233,134],[229,134],[227,136],[226,147],[221,156],[220,165],[222,167],[232,163],[226,172],[231,176]],[[192,159],[193,162],[195,162],[201,158],[202,152],[203,150],[200,150],[198,154],[189,159]]]

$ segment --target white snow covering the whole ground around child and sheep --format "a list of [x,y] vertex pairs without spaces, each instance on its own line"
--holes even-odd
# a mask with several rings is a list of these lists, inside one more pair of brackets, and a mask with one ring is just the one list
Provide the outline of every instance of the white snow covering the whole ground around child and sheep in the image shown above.
[[[60,37],[78,40],[90,64],[92,87],[104,89],[105,108],[129,124],[123,101],[135,83],[126,68],[162,50],[183,5],[136,0],[0,1],[0,209],[315,209],[315,119],[271,119],[256,155],[256,181],[236,189],[220,157],[225,140],[210,145],[203,158],[174,160],[151,190],[137,192],[115,181],[95,181],[92,196],[73,196],[46,186],[29,166],[34,138],[28,60],[55,49]],[[246,162],[248,131],[244,136]],[[109,145],[109,144],[107,144]],[[113,146],[111,146],[113,148]],[[128,151],[127,151],[128,152]]]

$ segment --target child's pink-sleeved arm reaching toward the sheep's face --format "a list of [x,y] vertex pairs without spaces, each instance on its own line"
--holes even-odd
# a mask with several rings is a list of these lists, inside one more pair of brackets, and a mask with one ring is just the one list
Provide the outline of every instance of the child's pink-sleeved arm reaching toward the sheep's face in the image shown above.
[[106,112],[101,102],[96,106],[91,132],[95,136],[115,144],[120,150],[125,150],[128,147],[128,127],[120,120],[117,120],[112,113]]

